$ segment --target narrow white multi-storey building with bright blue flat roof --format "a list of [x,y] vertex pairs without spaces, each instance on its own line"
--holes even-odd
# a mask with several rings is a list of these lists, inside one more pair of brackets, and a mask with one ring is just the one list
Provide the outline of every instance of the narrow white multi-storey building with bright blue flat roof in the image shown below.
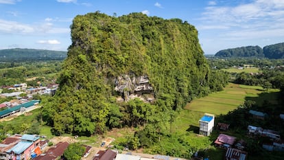
[[214,115],[205,113],[199,120],[199,134],[209,136],[214,126]]

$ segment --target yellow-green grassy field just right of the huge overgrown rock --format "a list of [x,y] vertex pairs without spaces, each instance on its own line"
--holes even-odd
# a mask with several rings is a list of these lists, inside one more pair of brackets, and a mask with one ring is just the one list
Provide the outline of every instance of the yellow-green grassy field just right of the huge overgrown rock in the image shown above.
[[185,108],[191,111],[213,113],[214,115],[226,114],[240,104],[244,104],[245,98],[257,97],[261,92],[262,87],[230,83],[224,88],[224,91],[211,93],[204,98],[193,100]]

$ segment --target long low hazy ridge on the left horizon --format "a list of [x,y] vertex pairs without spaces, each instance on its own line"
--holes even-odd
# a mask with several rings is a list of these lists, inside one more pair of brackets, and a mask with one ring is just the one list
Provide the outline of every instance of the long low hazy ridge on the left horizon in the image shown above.
[[43,49],[1,49],[0,62],[27,61],[27,60],[64,60],[67,52]]

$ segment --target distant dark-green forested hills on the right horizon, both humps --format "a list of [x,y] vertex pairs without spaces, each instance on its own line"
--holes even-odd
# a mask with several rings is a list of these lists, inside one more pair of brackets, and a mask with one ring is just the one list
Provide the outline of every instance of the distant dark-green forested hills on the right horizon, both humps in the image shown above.
[[279,59],[284,58],[284,43],[277,43],[274,45],[267,45],[263,47],[247,46],[237,47],[232,49],[224,49],[215,54],[215,57],[222,58],[237,58],[237,57],[256,57],[256,58],[270,58]]

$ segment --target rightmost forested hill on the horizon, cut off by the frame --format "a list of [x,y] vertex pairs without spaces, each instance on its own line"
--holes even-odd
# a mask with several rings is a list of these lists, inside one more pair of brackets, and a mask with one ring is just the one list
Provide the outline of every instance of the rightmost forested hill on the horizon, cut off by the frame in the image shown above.
[[270,59],[284,58],[284,43],[263,47],[263,54]]

